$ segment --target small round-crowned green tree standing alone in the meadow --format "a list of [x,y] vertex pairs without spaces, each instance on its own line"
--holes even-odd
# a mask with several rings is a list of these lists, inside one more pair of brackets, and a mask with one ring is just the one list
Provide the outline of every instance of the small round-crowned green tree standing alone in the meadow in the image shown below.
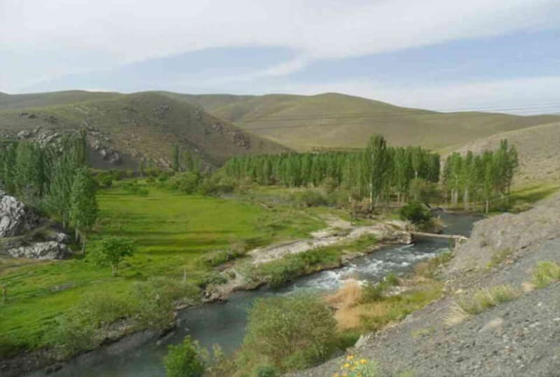
[[120,263],[124,258],[134,255],[134,252],[136,245],[131,239],[110,236],[98,241],[87,258],[99,266],[110,265],[113,276],[116,276]]

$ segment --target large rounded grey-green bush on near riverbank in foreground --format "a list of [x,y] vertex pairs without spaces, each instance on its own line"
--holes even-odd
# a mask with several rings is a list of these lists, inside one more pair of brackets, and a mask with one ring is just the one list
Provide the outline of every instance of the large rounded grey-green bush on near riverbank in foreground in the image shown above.
[[255,300],[238,360],[242,370],[267,362],[284,372],[325,360],[333,351],[336,321],[313,294]]

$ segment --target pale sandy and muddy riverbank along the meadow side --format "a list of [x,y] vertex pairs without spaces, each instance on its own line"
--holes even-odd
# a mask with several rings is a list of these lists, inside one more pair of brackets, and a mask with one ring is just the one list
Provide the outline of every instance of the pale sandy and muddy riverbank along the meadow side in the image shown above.
[[[324,248],[337,249],[338,255],[334,262],[319,261],[313,263],[312,266],[305,266],[302,270],[296,271],[292,276],[293,279],[299,276],[309,275],[313,272],[338,268],[348,263],[350,260],[363,256],[365,253],[373,252],[385,244],[389,243],[410,243],[409,225],[398,220],[386,220],[374,225],[353,226],[342,219],[330,216],[327,219],[328,227],[311,233],[311,238],[301,239],[291,242],[281,242],[272,244],[263,248],[255,248],[246,254],[242,261],[236,261],[233,267],[226,268],[221,271],[220,276],[227,280],[225,284],[209,285],[204,290],[204,302],[212,302],[217,300],[226,300],[228,296],[238,290],[252,290],[259,286],[267,284],[267,279],[263,276],[255,274],[256,268],[269,266],[270,263],[280,262],[290,256],[300,255],[310,251],[320,251]],[[365,236],[371,238],[361,239]],[[354,242],[352,244],[352,242]],[[340,248],[338,250],[338,248]],[[239,262],[239,263],[238,263]],[[252,269],[249,270],[248,267]],[[251,271],[251,272],[249,272]],[[287,282],[287,281],[286,281]],[[175,318],[179,317],[179,310],[184,310],[189,305],[180,304],[176,307]],[[138,334],[150,334],[149,340],[172,331],[176,327],[176,322],[163,331],[140,331],[133,330],[133,327],[120,321],[120,326],[111,328],[110,333],[104,335],[100,342],[101,350],[86,352],[101,352],[104,354],[106,349],[114,350],[119,348],[119,343],[125,344],[137,343],[138,340],[144,340],[144,337]],[[132,332],[132,333],[131,333]],[[110,351],[112,352],[112,351]],[[88,358],[84,355],[77,355],[78,358]],[[95,357],[94,357],[95,358]],[[64,360],[48,348],[36,352],[26,352],[13,357],[10,360],[3,361],[0,364],[0,370],[7,376],[21,375],[31,370],[44,369],[57,370],[60,363]],[[51,366],[49,366],[51,365]]]

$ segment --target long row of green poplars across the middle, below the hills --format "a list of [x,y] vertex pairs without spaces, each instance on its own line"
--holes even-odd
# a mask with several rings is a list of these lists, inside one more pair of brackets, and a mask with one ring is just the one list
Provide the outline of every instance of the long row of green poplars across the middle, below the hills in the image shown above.
[[415,178],[438,182],[440,155],[419,147],[389,147],[374,135],[360,151],[245,155],[228,160],[224,171],[261,185],[302,187],[329,181],[373,204],[391,194],[398,201],[406,199]]

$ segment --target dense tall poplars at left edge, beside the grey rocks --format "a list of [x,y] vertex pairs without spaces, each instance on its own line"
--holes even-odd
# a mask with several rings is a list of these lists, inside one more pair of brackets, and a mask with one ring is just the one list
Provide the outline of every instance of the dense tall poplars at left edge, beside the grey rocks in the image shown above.
[[57,145],[0,142],[0,188],[57,217],[82,238],[97,218],[96,185],[87,166],[85,133],[64,135]]

